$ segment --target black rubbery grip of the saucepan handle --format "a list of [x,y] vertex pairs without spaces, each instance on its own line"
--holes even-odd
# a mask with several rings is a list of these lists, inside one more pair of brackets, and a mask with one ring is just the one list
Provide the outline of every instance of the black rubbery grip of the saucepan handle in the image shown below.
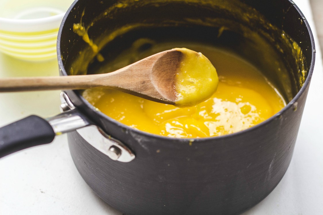
[[43,118],[28,116],[0,128],[0,158],[32,146],[50,143],[55,132]]

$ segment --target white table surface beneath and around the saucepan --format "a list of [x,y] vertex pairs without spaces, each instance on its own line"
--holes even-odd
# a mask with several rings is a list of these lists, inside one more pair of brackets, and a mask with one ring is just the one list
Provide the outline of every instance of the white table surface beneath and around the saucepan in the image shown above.
[[[323,214],[323,66],[308,0],[294,0],[310,23],[316,65],[290,166],[273,192],[244,215]],[[0,53],[0,77],[58,75],[56,60],[27,63]],[[1,93],[0,126],[59,112],[59,91]],[[121,215],[79,175],[66,135],[0,159],[0,214]]]

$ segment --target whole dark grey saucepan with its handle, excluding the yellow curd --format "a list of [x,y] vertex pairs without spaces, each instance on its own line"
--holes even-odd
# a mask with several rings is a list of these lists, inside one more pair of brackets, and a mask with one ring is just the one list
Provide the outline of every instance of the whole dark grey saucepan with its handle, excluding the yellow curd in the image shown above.
[[81,92],[65,91],[61,114],[2,128],[1,155],[68,132],[81,176],[125,214],[239,214],[253,207],[276,187],[292,158],[315,61],[307,20],[290,0],[77,0],[59,30],[60,74],[95,73],[98,54],[113,59],[143,37],[232,50],[276,83],[288,104],[241,132],[178,139],[130,128]]

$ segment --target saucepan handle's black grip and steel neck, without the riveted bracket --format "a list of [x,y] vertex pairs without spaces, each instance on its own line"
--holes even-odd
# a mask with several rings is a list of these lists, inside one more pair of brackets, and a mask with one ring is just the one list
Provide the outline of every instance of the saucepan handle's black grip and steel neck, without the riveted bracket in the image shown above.
[[0,128],[0,158],[32,146],[50,143],[55,135],[75,131],[91,123],[78,110],[43,119],[31,115]]

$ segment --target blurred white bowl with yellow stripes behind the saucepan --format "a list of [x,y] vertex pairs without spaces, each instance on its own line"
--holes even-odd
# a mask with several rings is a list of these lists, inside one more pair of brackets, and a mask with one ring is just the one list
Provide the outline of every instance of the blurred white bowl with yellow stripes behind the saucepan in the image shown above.
[[0,51],[27,61],[56,58],[59,25],[73,0],[0,0]]

